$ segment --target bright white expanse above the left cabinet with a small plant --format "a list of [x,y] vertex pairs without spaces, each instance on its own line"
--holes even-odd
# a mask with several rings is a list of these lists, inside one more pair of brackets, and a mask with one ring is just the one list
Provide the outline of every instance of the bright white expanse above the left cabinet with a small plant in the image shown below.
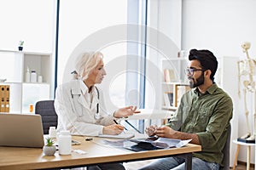
[[55,1],[1,0],[0,49],[52,53],[55,31]]

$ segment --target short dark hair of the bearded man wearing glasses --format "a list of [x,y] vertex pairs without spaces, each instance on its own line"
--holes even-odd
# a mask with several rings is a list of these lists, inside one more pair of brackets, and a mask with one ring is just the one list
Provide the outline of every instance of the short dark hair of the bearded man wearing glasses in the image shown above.
[[212,52],[207,49],[191,49],[189,51],[189,60],[193,59],[200,61],[202,69],[212,71],[210,78],[212,79],[212,82],[214,82],[214,75],[218,68],[218,61],[214,54],[212,54]]

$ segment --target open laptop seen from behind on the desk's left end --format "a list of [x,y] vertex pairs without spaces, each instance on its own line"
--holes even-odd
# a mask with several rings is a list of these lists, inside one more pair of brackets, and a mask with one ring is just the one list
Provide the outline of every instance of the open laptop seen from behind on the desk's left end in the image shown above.
[[0,146],[43,148],[41,116],[0,113]]

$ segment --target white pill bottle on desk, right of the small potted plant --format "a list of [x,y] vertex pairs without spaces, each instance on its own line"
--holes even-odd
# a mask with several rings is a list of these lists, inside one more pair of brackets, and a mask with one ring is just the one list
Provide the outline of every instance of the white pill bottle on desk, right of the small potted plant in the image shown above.
[[72,137],[69,131],[61,131],[58,137],[59,154],[70,155],[72,150]]

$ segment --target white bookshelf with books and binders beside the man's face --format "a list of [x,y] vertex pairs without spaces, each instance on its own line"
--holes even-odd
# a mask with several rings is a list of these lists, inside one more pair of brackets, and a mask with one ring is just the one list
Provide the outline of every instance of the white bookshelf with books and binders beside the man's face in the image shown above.
[[163,71],[161,87],[163,94],[162,109],[175,111],[182,95],[190,89],[184,73],[184,69],[187,66],[188,61],[185,58],[161,60]]

